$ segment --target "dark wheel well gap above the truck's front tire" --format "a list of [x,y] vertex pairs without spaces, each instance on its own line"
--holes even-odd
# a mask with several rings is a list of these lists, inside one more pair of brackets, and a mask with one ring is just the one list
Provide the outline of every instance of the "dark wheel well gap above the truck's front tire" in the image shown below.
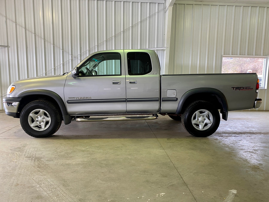
[[25,105],[27,105],[28,103],[35,101],[35,100],[47,100],[47,101],[50,101],[51,103],[53,103],[54,106],[59,109],[60,117],[62,119],[62,112],[60,110],[58,103],[56,102],[56,100],[54,100],[52,97],[50,97],[48,95],[26,95],[25,97],[23,97],[22,100],[20,101],[17,118],[19,118],[23,107],[25,107]]

